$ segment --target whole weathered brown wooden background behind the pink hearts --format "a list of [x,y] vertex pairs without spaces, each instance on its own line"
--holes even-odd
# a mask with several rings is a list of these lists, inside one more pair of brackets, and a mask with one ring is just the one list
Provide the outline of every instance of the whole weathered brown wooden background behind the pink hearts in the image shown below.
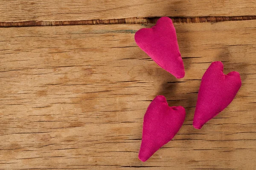
[[[134,42],[162,16],[175,22],[183,79]],[[0,27],[0,170],[256,168],[254,0],[0,0]],[[213,61],[239,71],[242,86],[196,130],[198,88]],[[186,119],[141,162],[143,116],[156,95],[185,107]]]

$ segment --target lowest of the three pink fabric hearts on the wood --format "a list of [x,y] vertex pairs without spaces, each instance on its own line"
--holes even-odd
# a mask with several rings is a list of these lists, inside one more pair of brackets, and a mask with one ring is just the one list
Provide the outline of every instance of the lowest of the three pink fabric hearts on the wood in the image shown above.
[[182,106],[169,107],[165,96],[156,96],[144,116],[139,159],[148,160],[180,130],[186,112]]

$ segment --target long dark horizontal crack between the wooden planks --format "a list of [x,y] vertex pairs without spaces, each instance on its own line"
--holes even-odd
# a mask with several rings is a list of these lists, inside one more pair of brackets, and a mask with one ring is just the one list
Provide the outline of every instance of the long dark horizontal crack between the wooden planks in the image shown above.
[[[76,26],[99,24],[154,24],[160,17],[130,17],[108,20],[64,20],[64,21],[11,21],[0,22],[0,27],[28,27],[28,26]],[[256,16],[234,17],[170,17],[173,23],[216,23],[223,21],[256,20]]]

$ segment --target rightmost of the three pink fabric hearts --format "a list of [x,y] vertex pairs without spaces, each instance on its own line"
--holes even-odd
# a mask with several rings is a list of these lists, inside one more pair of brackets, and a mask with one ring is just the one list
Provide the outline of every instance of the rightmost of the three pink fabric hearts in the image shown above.
[[225,75],[222,62],[212,62],[202,77],[193,126],[201,129],[206,122],[217,116],[232,102],[240,87],[238,72]]

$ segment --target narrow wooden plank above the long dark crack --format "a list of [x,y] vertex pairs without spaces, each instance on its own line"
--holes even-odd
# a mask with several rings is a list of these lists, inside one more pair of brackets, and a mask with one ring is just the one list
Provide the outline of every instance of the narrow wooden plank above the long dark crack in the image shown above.
[[127,17],[252,16],[252,0],[12,0],[0,1],[0,21]]

